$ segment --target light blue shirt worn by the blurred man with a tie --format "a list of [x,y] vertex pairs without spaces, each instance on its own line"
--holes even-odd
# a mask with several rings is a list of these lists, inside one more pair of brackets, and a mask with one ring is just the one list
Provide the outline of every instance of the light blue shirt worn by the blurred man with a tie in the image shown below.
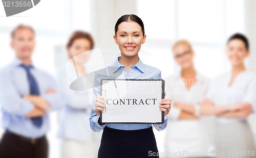
[[[22,96],[29,94],[27,73],[20,67],[22,61],[17,58],[0,70],[0,104],[2,107],[2,127],[15,134],[38,138],[49,130],[49,113],[62,107],[61,96],[57,90],[54,78],[36,67],[30,71],[39,86],[40,94],[50,104],[51,108],[45,110],[42,116],[42,126],[35,127],[31,118],[24,117],[34,109],[34,105]],[[46,94],[47,90],[55,89],[56,93]]]

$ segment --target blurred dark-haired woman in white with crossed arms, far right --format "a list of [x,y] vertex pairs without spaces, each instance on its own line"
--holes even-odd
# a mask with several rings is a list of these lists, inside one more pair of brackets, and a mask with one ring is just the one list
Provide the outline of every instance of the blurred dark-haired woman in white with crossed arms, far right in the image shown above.
[[226,54],[231,70],[212,81],[200,114],[216,116],[217,157],[255,157],[247,118],[256,105],[256,75],[245,67],[245,58],[249,56],[247,38],[232,35]]

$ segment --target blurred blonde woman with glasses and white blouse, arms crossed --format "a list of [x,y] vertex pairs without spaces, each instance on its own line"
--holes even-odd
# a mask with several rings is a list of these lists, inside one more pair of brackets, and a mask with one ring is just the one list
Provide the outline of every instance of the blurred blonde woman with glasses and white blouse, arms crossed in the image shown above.
[[[172,99],[172,113],[165,137],[166,151],[174,157],[186,157],[183,151],[203,155],[208,151],[209,141],[199,108],[205,98],[209,80],[194,67],[195,52],[187,40],[179,40],[173,46],[173,55],[180,67],[177,75],[165,80],[166,95]],[[181,152],[182,155],[178,154]]]

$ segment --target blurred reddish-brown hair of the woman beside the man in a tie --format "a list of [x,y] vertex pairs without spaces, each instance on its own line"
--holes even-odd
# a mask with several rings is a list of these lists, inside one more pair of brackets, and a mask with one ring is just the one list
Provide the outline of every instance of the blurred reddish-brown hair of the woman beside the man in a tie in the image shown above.
[[[91,36],[90,33],[87,33],[87,32],[83,32],[83,31],[75,31],[69,38],[69,41],[67,43],[67,48],[72,46],[72,44],[74,43],[74,41],[76,39],[80,39],[80,38],[84,38],[84,39],[87,39],[89,40],[90,44],[91,44],[91,49],[93,49],[94,47],[94,40],[93,40],[93,37]],[[69,57],[71,58],[71,56],[69,55]]]

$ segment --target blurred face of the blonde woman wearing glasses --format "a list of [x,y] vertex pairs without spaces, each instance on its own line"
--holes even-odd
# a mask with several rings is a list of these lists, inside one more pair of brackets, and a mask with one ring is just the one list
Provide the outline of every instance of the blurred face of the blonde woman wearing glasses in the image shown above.
[[188,68],[193,65],[194,51],[185,44],[178,44],[173,48],[174,58],[181,68]]

